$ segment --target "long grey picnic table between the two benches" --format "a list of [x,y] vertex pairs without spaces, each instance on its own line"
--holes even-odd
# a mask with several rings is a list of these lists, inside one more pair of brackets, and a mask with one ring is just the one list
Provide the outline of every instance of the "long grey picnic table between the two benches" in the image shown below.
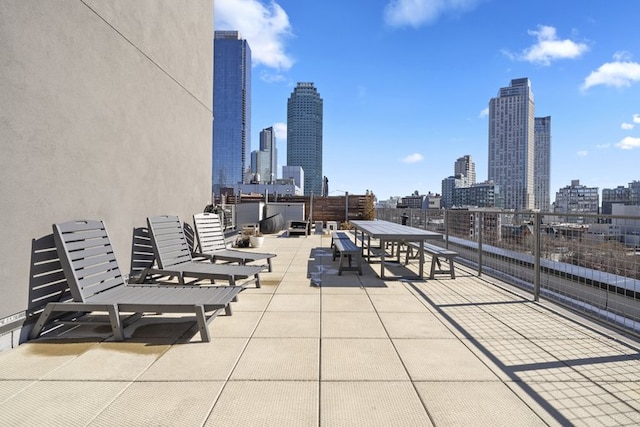
[[[371,239],[377,239],[380,242],[380,278],[384,279],[385,268],[385,245],[391,243],[398,246],[398,262],[400,262],[400,246],[409,242],[415,242],[422,247],[425,240],[442,240],[440,233],[422,230],[420,228],[409,227],[407,225],[397,224],[389,221],[350,221],[355,228],[356,243],[358,242],[358,233],[362,233],[362,250],[364,256],[365,239],[367,244],[367,261],[371,261]],[[420,264],[418,267],[418,277],[424,279],[424,251],[419,251]]]

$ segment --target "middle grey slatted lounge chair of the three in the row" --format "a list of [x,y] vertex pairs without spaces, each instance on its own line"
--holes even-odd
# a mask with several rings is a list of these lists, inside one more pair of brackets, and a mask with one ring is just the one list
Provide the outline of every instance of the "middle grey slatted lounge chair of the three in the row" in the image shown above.
[[147,270],[148,274],[175,276],[181,284],[185,283],[185,278],[195,278],[211,280],[212,283],[215,280],[223,280],[232,286],[255,282],[256,287],[260,287],[262,266],[194,261],[177,216],[148,217],[147,224],[157,264],[156,267]]

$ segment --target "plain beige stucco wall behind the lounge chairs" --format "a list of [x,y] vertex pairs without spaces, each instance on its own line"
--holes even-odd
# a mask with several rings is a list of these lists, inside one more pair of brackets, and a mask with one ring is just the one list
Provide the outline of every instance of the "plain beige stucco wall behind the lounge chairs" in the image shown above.
[[0,2],[0,319],[52,223],[104,220],[127,273],[147,216],[202,211],[212,46],[213,0]]

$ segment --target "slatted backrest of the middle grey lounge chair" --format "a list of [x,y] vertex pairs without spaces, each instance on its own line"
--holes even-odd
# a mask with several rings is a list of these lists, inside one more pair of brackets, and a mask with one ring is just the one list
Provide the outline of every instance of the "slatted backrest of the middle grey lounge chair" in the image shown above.
[[147,218],[147,224],[158,268],[170,269],[193,261],[180,218],[175,215],[152,216]]

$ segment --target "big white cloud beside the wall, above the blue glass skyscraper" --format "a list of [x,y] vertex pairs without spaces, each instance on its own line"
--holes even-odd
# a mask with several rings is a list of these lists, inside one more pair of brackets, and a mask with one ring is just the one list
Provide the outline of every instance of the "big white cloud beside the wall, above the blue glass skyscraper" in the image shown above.
[[239,31],[249,42],[254,65],[288,70],[293,58],[286,52],[285,40],[292,36],[287,13],[275,1],[268,5],[258,0],[216,0],[216,30]]

